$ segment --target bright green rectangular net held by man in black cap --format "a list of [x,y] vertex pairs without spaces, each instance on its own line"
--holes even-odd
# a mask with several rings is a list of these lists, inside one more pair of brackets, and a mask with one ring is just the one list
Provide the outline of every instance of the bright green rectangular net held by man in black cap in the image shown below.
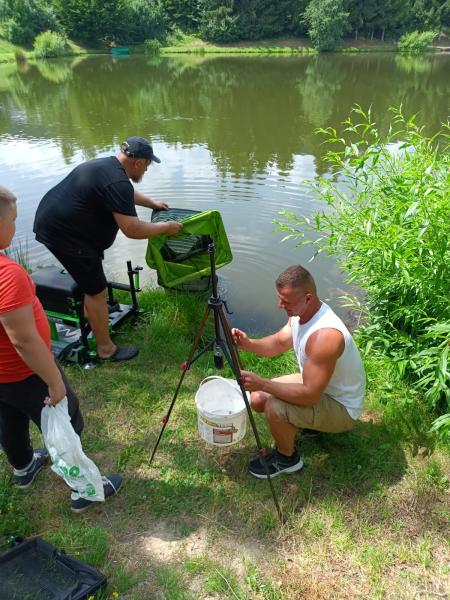
[[208,244],[215,244],[216,269],[233,260],[230,244],[217,210],[198,212],[171,208],[154,211],[152,223],[183,223],[177,236],[159,235],[148,240],[145,260],[158,272],[158,283],[175,288],[211,275]]

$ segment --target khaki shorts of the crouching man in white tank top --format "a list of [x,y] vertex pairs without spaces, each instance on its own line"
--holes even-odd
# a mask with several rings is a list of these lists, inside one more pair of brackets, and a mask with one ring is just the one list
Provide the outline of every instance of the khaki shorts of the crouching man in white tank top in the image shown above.
[[[302,383],[300,373],[275,377],[282,383]],[[354,427],[356,421],[348,414],[344,405],[333,400],[328,394],[322,394],[314,406],[295,406],[274,396],[270,397],[275,413],[283,421],[301,429],[315,429],[326,433],[341,433]]]

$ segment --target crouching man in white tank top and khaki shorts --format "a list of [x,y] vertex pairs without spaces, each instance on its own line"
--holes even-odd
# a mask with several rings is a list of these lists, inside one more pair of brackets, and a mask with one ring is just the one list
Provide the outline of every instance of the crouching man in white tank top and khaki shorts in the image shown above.
[[[252,392],[251,405],[265,413],[276,448],[267,455],[270,475],[294,473],[303,466],[295,449],[300,428],[329,433],[351,429],[363,411],[365,373],[356,344],[341,319],[317,296],[309,271],[301,266],[284,270],[276,280],[278,306],[289,319],[277,333],[251,339],[233,329],[239,348],[259,356],[276,356],[294,349],[300,373],[265,379],[241,371]],[[249,471],[265,479],[259,458]]]

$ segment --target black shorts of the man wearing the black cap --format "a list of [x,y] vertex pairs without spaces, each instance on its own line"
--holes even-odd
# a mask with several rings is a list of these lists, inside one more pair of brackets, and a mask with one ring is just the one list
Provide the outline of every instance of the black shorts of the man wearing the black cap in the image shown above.
[[54,248],[49,250],[73,277],[83,294],[95,296],[106,289],[107,281],[100,256],[70,256]]

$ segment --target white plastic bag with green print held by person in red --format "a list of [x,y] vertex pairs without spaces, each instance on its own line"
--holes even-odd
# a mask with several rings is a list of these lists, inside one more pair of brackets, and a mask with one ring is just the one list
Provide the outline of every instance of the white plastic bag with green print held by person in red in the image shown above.
[[76,490],[80,498],[103,502],[105,493],[100,471],[81,447],[80,437],[70,422],[67,397],[41,413],[44,442],[52,459],[52,470]]

